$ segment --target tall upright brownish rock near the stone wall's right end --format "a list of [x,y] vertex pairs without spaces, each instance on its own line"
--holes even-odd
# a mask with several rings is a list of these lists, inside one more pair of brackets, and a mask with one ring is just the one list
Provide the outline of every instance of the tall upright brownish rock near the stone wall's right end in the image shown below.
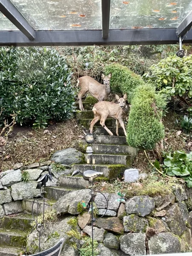
[[180,211],[178,204],[173,204],[167,210],[166,223],[171,232],[177,236],[182,235],[183,232],[186,230],[186,222],[183,218],[183,214]]

